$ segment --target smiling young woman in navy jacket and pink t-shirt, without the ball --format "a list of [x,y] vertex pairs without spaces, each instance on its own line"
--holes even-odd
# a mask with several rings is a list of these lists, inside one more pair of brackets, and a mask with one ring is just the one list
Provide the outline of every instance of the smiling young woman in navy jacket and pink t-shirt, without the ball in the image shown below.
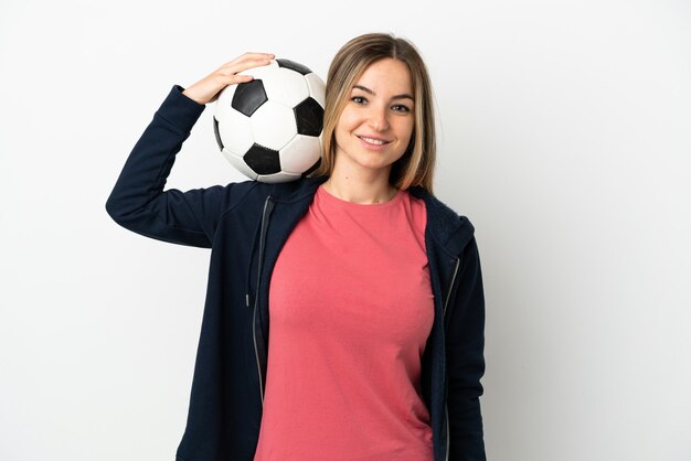
[[130,230],[212,249],[178,460],[485,460],[478,248],[432,194],[432,90],[410,42],[337,53],[309,176],[163,191],[205,104],[273,57],[173,86],[106,204]]

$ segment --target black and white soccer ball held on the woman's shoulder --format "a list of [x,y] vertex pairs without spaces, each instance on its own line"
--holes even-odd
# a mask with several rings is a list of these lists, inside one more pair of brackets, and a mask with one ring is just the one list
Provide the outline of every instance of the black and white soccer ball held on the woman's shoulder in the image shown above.
[[306,66],[272,60],[254,79],[219,94],[213,128],[223,157],[247,178],[295,181],[321,161],[325,83]]

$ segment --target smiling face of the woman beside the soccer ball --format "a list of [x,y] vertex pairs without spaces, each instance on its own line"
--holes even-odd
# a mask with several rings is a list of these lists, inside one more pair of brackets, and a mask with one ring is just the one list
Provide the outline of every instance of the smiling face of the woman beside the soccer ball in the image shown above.
[[411,72],[403,62],[386,57],[371,64],[351,88],[336,126],[337,164],[389,178],[413,135],[414,103]]

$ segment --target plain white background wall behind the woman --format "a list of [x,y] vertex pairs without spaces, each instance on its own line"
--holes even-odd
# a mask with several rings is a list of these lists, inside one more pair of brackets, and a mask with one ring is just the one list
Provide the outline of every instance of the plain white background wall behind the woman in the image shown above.
[[[691,460],[691,4],[0,3],[0,459],[172,460],[209,250],[105,202],[173,84],[245,51],[426,58],[437,196],[476,226],[493,461]],[[243,180],[206,108],[167,187]]]

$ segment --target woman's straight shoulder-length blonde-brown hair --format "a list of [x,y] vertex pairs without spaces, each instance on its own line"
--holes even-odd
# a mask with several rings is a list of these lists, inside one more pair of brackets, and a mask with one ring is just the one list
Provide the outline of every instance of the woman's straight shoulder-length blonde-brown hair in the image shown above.
[[350,99],[352,87],[372,63],[385,57],[398,60],[408,67],[415,98],[413,136],[403,157],[393,163],[389,182],[401,190],[421,185],[433,193],[436,136],[432,84],[425,63],[413,43],[393,34],[357,36],[346,43],[331,61],[326,88],[321,163],[309,175],[330,176],[333,172],[336,126]]

